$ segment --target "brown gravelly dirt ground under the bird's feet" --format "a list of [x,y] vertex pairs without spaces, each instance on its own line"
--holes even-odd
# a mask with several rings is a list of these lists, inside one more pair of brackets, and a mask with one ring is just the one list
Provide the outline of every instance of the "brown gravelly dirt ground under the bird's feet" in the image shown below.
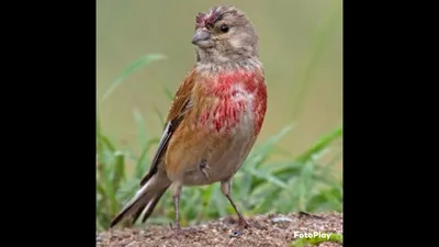
[[[183,227],[184,234],[175,235],[170,226],[112,229],[97,234],[97,246],[111,247],[196,247],[196,246],[290,246],[299,233],[342,234],[340,213],[292,213],[246,217],[250,228],[239,231],[235,216],[228,216],[205,224]],[[299,237],[297,237],[299,238]],[[340,243],[325,242],[316,246],[342,246]]]

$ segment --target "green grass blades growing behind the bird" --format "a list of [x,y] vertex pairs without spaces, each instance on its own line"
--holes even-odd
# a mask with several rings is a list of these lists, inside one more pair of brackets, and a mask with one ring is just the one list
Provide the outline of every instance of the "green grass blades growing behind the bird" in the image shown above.
[[[124,78],[161,58],[164,58],[161,55],[146,55],[130,65],[114,80],[99,105],[108,99],[116,86],[123,82]],[[164,97],[169,93],[169,90],[165,89]],[[164,119],[159,111],[156,111],[156,114],[160,120]],[[98,106],[97,227],[101,231],[108,228],[111,218],[134,195],[140,178],[149,168],[151,157],[148,156],[148,151],[156,147],[161,134],[150,135],[145,130],[144,119],[139,111],[134,110],[133,117],[142,145],[142,151],[137,155],[130,149],[117,147],[115,142],[102,132]],[[293,125],[286,125],[279,133],[255,146],[241,169],[234,177],[233,197],[246,215],[269,212],[341,211],[342,186],[340,179],[333,173],[333,167],[341,157],[340,144],[334,141],[342,136],[342,128],[337,127],[322,136],[296,157],[291,157],[288,151],[277,147],[277,143],[283,136],[291,134],[292,130]],[[334,158],[322,164],[320,158],[328,155]],[[283,161],[270,161],[273,156],[281,157]],[[128,159],[135,161],[134,175],[130,177],[125,167]],[[221,193],[218,183],[183,188],[180,204],[182,225],[227,214],[235,215],[235,212]],[[172,218],[172,200],[167,191],[148,222],[167,224]]]

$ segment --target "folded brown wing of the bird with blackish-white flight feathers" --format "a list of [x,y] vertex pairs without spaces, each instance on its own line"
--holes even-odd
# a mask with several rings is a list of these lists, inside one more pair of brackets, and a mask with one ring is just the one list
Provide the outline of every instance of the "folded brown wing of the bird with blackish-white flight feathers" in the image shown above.
[[157,166],[168,147],[170,137],[184,119],[187,110],[192,106],[191,92],[194,86],[194,78],[195,70],[192,69],[192,71],[185,77],[184,81],[178,88],[166,120],[164,134],[158,144],[156,154],[154,155],[151,166],[148,173],[142,179],[140,186],[144,186],[157,172]]

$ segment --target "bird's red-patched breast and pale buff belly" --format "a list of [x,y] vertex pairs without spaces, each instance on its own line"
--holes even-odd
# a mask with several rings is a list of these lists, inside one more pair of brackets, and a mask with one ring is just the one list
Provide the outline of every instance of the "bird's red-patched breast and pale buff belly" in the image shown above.
[[244,162],[256,139],[257,97],[241,83],[204,94],[194,131],[202,159],[184,176],[184,184],[210,184],[229,178]]

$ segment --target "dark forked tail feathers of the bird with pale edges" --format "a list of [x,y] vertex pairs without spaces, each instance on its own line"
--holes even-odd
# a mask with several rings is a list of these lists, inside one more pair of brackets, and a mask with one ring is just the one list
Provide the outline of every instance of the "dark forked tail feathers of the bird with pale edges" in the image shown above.
[[157,202],[169,188],[170,181],[167,178],[158,178],[156,173],[140,189],[137,190],[134,198],[126,203],[124,209],[111,221],[110,228],[121,222],[123,218],[130,217],[130,225],[133,225],[145,212],[142,222],[145,222],[153,213]]

